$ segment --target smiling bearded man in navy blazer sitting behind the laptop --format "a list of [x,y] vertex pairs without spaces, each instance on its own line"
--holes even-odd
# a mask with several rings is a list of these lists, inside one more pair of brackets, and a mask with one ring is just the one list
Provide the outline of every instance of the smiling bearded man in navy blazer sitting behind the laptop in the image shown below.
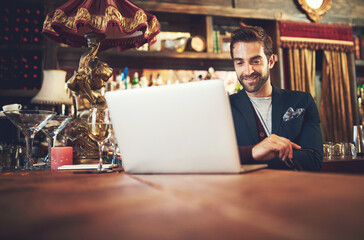
[[271,84],[270,69],[276,61],[271,38],[260,27],[242,27],[232,33],[230,53],[244,87],[230,96],[241,163],[320,171],[317,107],[309,93]]

